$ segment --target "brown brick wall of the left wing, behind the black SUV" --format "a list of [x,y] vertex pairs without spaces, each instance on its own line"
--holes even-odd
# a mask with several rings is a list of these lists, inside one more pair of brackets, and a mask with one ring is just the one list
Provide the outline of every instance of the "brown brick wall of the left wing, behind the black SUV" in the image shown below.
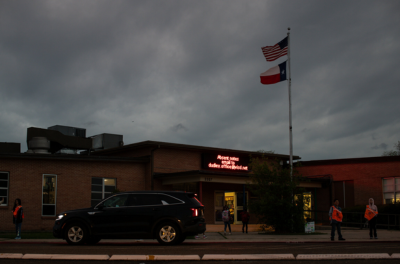
[[9,203],[0,206],[0,230],[14,230],[12,207],[20,198],[25,219],[22,230],[52,230],[54,217],[42,217],[43,174],[57,175],[56,213],[90,207],[91,178],[117,179],[121,191],[143,190],[146,164],[133,162],[3,159],[0,171],[10,172]]

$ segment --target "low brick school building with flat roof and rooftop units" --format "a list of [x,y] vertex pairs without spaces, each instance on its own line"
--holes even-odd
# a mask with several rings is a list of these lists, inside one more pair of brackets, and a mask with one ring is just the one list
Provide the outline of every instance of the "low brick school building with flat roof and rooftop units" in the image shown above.
[[[115,191],[194,192],[207,224],[222,224],[224,205],[241,224],[240,212],[256,199],[246,184],[250,155],[259,152],[157,141],[124,145],[121,135],[86,138],[82,129],[52,128],[28,128],[26,153],[18,143],[0,143],[0,231],[14,230],[16,198],[24,207],[23,230],[51,230],[58,213],[93,206]],[[264,155],[283,166],[289,161],[289,155]],[[309,178],[301,186],[310,210],[328,210],[334,197],[342,207],[366,204],[370,197],[376,204],[400,201],[400,157],[307,161],[299,170]]]

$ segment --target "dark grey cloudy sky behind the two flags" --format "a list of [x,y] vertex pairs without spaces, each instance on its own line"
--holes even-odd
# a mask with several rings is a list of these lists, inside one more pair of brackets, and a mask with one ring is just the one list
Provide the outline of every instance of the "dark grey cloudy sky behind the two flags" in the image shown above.
[[[400,140],[399,1],[0,1],[0,141],[28,127],[289,154],[288,85],[261,47],[291,28],[294,154]],[[134,121],[134,122],[132,122]]]

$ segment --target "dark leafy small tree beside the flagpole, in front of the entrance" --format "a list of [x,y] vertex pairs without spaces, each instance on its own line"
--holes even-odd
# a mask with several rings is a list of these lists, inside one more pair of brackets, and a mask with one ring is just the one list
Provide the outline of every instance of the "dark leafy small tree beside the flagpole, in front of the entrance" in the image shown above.
[[299,188],[299,173],[293,170],[291,177],[290,168],[264,156],[252,158],[250,168],[248,188],[257,199],[249,201],[249,208],[263,229],[272,226],[277,233],[304,232],[304,189]]

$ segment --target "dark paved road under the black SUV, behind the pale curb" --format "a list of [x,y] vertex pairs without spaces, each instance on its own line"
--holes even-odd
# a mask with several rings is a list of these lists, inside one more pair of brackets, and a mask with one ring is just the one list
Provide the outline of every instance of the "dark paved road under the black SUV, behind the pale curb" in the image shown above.
[[178,246],[154,244],[0,244],[0,253],[22,254],[107,254],[107,255],[200,255],[204,254],[355,254],[400,253],[393,243],[183,243]]

